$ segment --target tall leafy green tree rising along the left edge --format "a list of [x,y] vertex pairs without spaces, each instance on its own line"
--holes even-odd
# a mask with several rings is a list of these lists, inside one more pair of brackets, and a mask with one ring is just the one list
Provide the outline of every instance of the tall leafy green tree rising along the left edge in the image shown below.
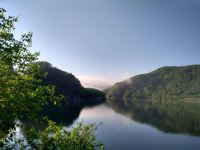
[[16,118],[36,118],[48,101],[59,100],[54,96],[54,87],[41,85],[37,78],[45,74],[33,63],[39,53],[30,51],[32,33],[16,39],[13,31],[18,18],[5,13],[0,8],[0,138],[14,127]]

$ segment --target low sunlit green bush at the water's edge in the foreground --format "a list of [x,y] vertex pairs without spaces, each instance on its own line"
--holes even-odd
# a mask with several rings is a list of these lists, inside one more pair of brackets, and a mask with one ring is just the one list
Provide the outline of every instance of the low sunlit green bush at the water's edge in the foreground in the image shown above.
[[39,134],[35,129],[31,129],[27,134],[27,139],[30,140],[30,145],[38,150],[94,150],[99,147],[104,149],[103,144],[95,140],[96,129],[97,126],[94,124],[78,123],[69,131],[49,121],[48,127]]

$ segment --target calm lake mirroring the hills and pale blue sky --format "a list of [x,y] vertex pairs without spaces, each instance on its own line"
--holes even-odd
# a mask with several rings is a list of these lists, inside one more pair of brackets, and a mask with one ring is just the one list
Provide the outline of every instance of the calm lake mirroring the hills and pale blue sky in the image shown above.
[[[79,122],[97,124],[97,141],[103,142],[106,150],[200,149],[198,102],[113,100],[71,108],[62,116],[55,116],[66,128]],[[32,122],[23,124],[38,126]],[[18,136],[22,134],[19,129]]]

